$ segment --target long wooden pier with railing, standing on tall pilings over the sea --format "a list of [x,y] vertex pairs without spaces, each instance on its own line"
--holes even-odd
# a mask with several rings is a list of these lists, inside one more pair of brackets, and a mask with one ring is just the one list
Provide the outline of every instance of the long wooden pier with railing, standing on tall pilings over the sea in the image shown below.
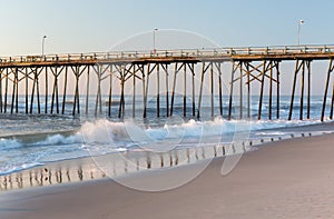
[[[333,59],[334,46],[0,57],[0,113],[65,115],[70,111],[73,116],[105,113],[110,118],[122,118],[126,113],[125,96],[129,94],[126,86],[130,86],[132,117],[136,117],[136,98],[143,98],[140,117],[147,117],[149,87],[154,87],[156,92],[156,117],[175,115],[176,88],[181,87],[184,104],[180,116],[183,117],[200,118],[204,89],[206,89],[209,94],[205,97],[210,99],[212,117],[223,117],[224,109],[227,109],[225,113],[227,119],[250,118],[250,96],[256,94],[258,96],[257,119],[263,119],[263,101],[267,93],[268,119],[279,119],[281,64],[294,61],[294,72],[285,72],[292,76],[293,83],[287,119],[293,118],[298,87],[299,119],[303,120],[310,119],[312,74],[321,73],[312,72],[312,63],[325,60],[328,62],[328,69],[327,72],[323,72],[326,73],[326,80],[323,83],[323,108],[320,119],[324,120],[327,116],[333,119]],[[226,72],[224,74],[223,64],[230,64],[228,77],[225,77]],[[252,92],[254,83],[259,86],[259,93]],[[228,86],[227,93],[224,93],[223,84]],[[141,93],[136,93],[138,90]],[[115,93],[119,93],[118,100],[115,100]],[[223,101],[223,96],[229,97],[227,106]],[[237,115],[233,110],[236,101],[234,96],[238,96],[237,104],[240,108]],[[327,98],[331,96],[330,115],[326,115]],[[218,101],[215,97],[218,97]],[[95,101],[94,107],[89,106],[91,98]],[[160,110],[161,98],[165,98],[164,104],[166,104],[164,115]],[[191,100],[190,113],[187,104],[189,99]],[[115,101],[118,110],[117,113],[111,113]],[[71,104],[67,104],[68,102]],[[20,104],[23,107],[19,107]]]

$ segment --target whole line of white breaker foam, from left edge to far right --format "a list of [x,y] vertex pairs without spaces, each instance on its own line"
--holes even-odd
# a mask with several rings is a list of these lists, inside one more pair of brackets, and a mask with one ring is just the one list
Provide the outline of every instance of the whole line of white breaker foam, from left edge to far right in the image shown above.
[[[49,135],[45,140],[32,143],[23,143],[18,139],[0,139],[0,150],[16,149],[24,146],[63,146],[75,143],[88,145],[118,145],[122,143],[145,143],[160,140],[173,140],[191,137],[212,137],[225,133],[271,130],[275,128],[307,126],[320,123],[317,120],[308,121],[247,121],[247,120],[225,120],[216,118],[213,121],[189,120],[180,125],[165,125],[161,128],[143,128],[132,121],[112,122],[108,120],[97,120],[85,122],[81,129],[73,135],[62,136],[60,133]],[[257,135],[284,135],[283,131],[257,132]]]

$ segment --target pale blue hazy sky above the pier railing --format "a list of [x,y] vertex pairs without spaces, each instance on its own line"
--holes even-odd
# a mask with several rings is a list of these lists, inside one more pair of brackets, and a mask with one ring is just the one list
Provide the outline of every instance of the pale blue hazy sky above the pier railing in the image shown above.
[[154,28],[206,36],[218,46],[333,43],[332,0],[0,0],[0,54],[107,51]]

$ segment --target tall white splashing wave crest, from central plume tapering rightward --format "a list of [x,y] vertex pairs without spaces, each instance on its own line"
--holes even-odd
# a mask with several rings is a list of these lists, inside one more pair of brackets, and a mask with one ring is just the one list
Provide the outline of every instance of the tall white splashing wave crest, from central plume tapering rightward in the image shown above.
[[[134,121],[111,122],[108,120],[98,120],[84,123],[80,133],[82,133],[86,143],[117,143],[121,141],[145,143],[166,139],[173,140],[190,137],[203,138],[225,133],[233,135],[236,132],[269,130],[313,123],[320,123],[320,121],[248,121],[216,118],[213,121],[189,120],[180,125],[167,123],[161,128],[144,128]],[[273,132],[272,135],[284,135],[284,132]]]

